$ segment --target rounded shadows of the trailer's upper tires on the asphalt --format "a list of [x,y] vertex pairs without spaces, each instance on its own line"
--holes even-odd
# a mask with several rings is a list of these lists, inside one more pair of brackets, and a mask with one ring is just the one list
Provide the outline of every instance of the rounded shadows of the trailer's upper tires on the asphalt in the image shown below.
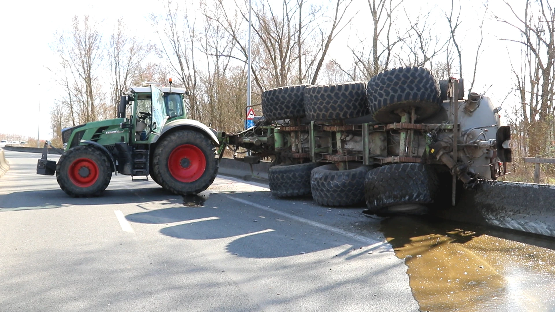
[[[250,192],[241,192],[249,196]],[[268,194],[262,194],[268,193]],[[270,196],[269,192],[252,192],[252,196]],[[129,214],[130,222],[170,225],[159,232],[163,235],[189,240],[226,239],[226,250],[246,258],[279,258],[347,246],[340,255],[353,256],[353,250],[363,247],[352,239],[329,231],[299,227],[279,215],[254,211],[237,203],[230,209],[219,209],[220,204],[230,204],[223,194],[210,194],[204,207],[163,208],[148,212]],[[299,207],[303,209],[302,207]],[[234,214],[240,215],[239,218]],[[263,217],[265,215],[266,217]],[[180,223],[171,225],[171,223]],[[364,248],[363,248],[364,249]],[[370,249],[360,250],[369,251]]]

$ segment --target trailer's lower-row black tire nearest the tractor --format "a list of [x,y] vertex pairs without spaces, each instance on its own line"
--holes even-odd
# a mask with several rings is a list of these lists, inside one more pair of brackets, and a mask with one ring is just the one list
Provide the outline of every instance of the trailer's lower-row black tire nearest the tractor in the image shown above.
[[310,194],[310,172],[316,163],[277,165],[268,169],[270,192],[275,197],[294,197]]

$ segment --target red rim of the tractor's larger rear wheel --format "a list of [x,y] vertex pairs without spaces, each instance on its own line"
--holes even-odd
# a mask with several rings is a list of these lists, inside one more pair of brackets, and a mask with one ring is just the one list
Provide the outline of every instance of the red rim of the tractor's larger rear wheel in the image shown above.
[[179,145],[170,153],[168,169],[171,176],[179,182],[194,182],[203,175],[206,158],[203,151],[195,145]]

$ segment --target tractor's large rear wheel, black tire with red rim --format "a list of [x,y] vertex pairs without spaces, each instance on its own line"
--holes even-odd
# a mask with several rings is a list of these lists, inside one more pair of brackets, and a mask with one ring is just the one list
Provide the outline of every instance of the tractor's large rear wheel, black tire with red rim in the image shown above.
[[151,177],[174,194],[203,192],[218,174],[214,143],[195,130],[170,133],[154,149],[153,173]]

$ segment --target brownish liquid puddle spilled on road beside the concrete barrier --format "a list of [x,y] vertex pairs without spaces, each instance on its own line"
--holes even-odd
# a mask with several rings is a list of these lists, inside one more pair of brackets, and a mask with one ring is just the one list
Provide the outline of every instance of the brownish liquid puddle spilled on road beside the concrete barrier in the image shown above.
[[421,310],[555,309],[554,241],[534,238],[534,243],[540,241],[538,245],[548,249],[500,238],[507,237],[504,232],[463,227],[403,216],[382,222],[395,255],[405,259]]

